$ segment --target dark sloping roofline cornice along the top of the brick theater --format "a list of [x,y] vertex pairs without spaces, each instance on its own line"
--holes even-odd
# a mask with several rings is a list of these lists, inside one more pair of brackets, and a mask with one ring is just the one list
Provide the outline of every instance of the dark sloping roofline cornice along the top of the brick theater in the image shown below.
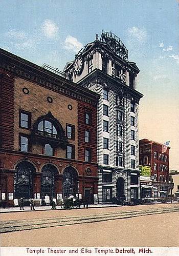
[[97,106],[99,95],[0,48],[0,68],[42,87]]

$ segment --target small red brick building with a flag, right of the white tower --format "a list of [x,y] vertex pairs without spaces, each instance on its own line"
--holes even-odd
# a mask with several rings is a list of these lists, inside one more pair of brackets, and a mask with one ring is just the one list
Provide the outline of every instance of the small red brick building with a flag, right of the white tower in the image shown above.
[[[140,165],[148,166],[151,170],[151,179],[148,184],[144,184],[141,176],[142,194],[145,190],[151,190],[154,198],[167,197],[170,193],[169,184],[169,147],[165,153],[162,153],[162,144],[143,139],[139,141],[140,147]],[[147,187],[145,187],[147,186]],[[145,197],[145,196],[144,196]]]

